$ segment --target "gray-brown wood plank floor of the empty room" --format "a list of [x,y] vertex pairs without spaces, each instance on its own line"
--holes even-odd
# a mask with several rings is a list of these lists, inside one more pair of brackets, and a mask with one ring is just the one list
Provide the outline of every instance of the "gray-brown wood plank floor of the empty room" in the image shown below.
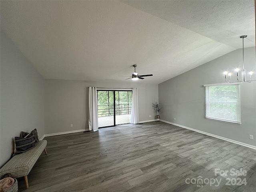
[[[163,122],[44,139],[48,155],[42,153],[30,171],[28,189],[18,179],[20,192],[256,191],[256,150]],[[215,175],[216,168],[242,168],[247,175]],[[221,182],[186,184],[193,178]],[[247,184],[232,185],[239,178]]]

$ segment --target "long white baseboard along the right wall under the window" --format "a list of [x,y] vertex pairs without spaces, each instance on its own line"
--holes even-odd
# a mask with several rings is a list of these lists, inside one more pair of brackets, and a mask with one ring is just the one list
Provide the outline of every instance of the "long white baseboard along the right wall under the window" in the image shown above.
[[186,126],[183,126],[183,125],[179,125],[179,124],[176,124],[176,123],[172,123],[172,122],[169,122],[169,121],[165,121],[165,120],[161,120],[161,119],[160,119],[160,121],[168,123],[168,124],[176,125],[178,127],[182,127],[182,128],[185,128],[185,129],[189,129],[189,130],[192,130],[192,131],[195,131],[195,132],[198,132],[198,133],[202,133],[202,134],[205,134],[205,135],[216,137],[218,139],[222,139],[222,140],[225,140],[225,141],[236,143],[238,145],[242,145],[242,146],[249,147],[249,148],[252,148],[252,149],[256,150],[256,146],[253,146],[253,145],[249,145],[249,144],[246,144],[246,143],[242,143],[242,142],[239,142],[239,141],[235,141],[235,140],[232,140],[232,139],[228,139],[228,138],[225,138],[225,137],[221,137],[221,136],[218,136],[218,135],[207,133],[207,132],[204,132],[204,131],[196,130],[196,129],[193,129],[193,128],[190,128],[190,127],[186,127]]

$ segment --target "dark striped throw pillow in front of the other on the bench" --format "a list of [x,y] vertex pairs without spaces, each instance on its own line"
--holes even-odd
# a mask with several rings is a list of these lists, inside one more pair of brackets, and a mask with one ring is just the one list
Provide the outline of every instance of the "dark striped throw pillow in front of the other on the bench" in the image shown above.
[[36,146],[35,144],[35,137],[32,135],[31,137],[22,138],[22,137],[15,137],[14,139],[14,155],[18,155],[20,153],[26,152]]

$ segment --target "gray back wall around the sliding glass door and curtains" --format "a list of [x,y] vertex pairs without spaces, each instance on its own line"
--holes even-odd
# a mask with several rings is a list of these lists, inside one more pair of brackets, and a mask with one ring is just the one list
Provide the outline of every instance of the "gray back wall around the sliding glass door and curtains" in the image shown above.
[[[119,82],[45,80],[45,134],[88,130],[88,87],[138,88],[139,120],[153,120],[152,102],[158,101],[158,85]],[[149,117],[152,115],[152,117]],[[73,127],[70,127],[73,124]]]

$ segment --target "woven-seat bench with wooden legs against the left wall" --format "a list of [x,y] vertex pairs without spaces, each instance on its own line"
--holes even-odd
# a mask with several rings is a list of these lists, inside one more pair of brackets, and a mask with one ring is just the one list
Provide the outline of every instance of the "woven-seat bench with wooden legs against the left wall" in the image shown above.
[[36,146],[22,154],[18,154],[13,156],[2,168],[0,169],[0,176],[2,177],[4,174],[10,174],[12,178],[24,177],[26,182],[26,188],[28,188],[28,174],[43,150],[45,154],[47,141],[40,140]]

